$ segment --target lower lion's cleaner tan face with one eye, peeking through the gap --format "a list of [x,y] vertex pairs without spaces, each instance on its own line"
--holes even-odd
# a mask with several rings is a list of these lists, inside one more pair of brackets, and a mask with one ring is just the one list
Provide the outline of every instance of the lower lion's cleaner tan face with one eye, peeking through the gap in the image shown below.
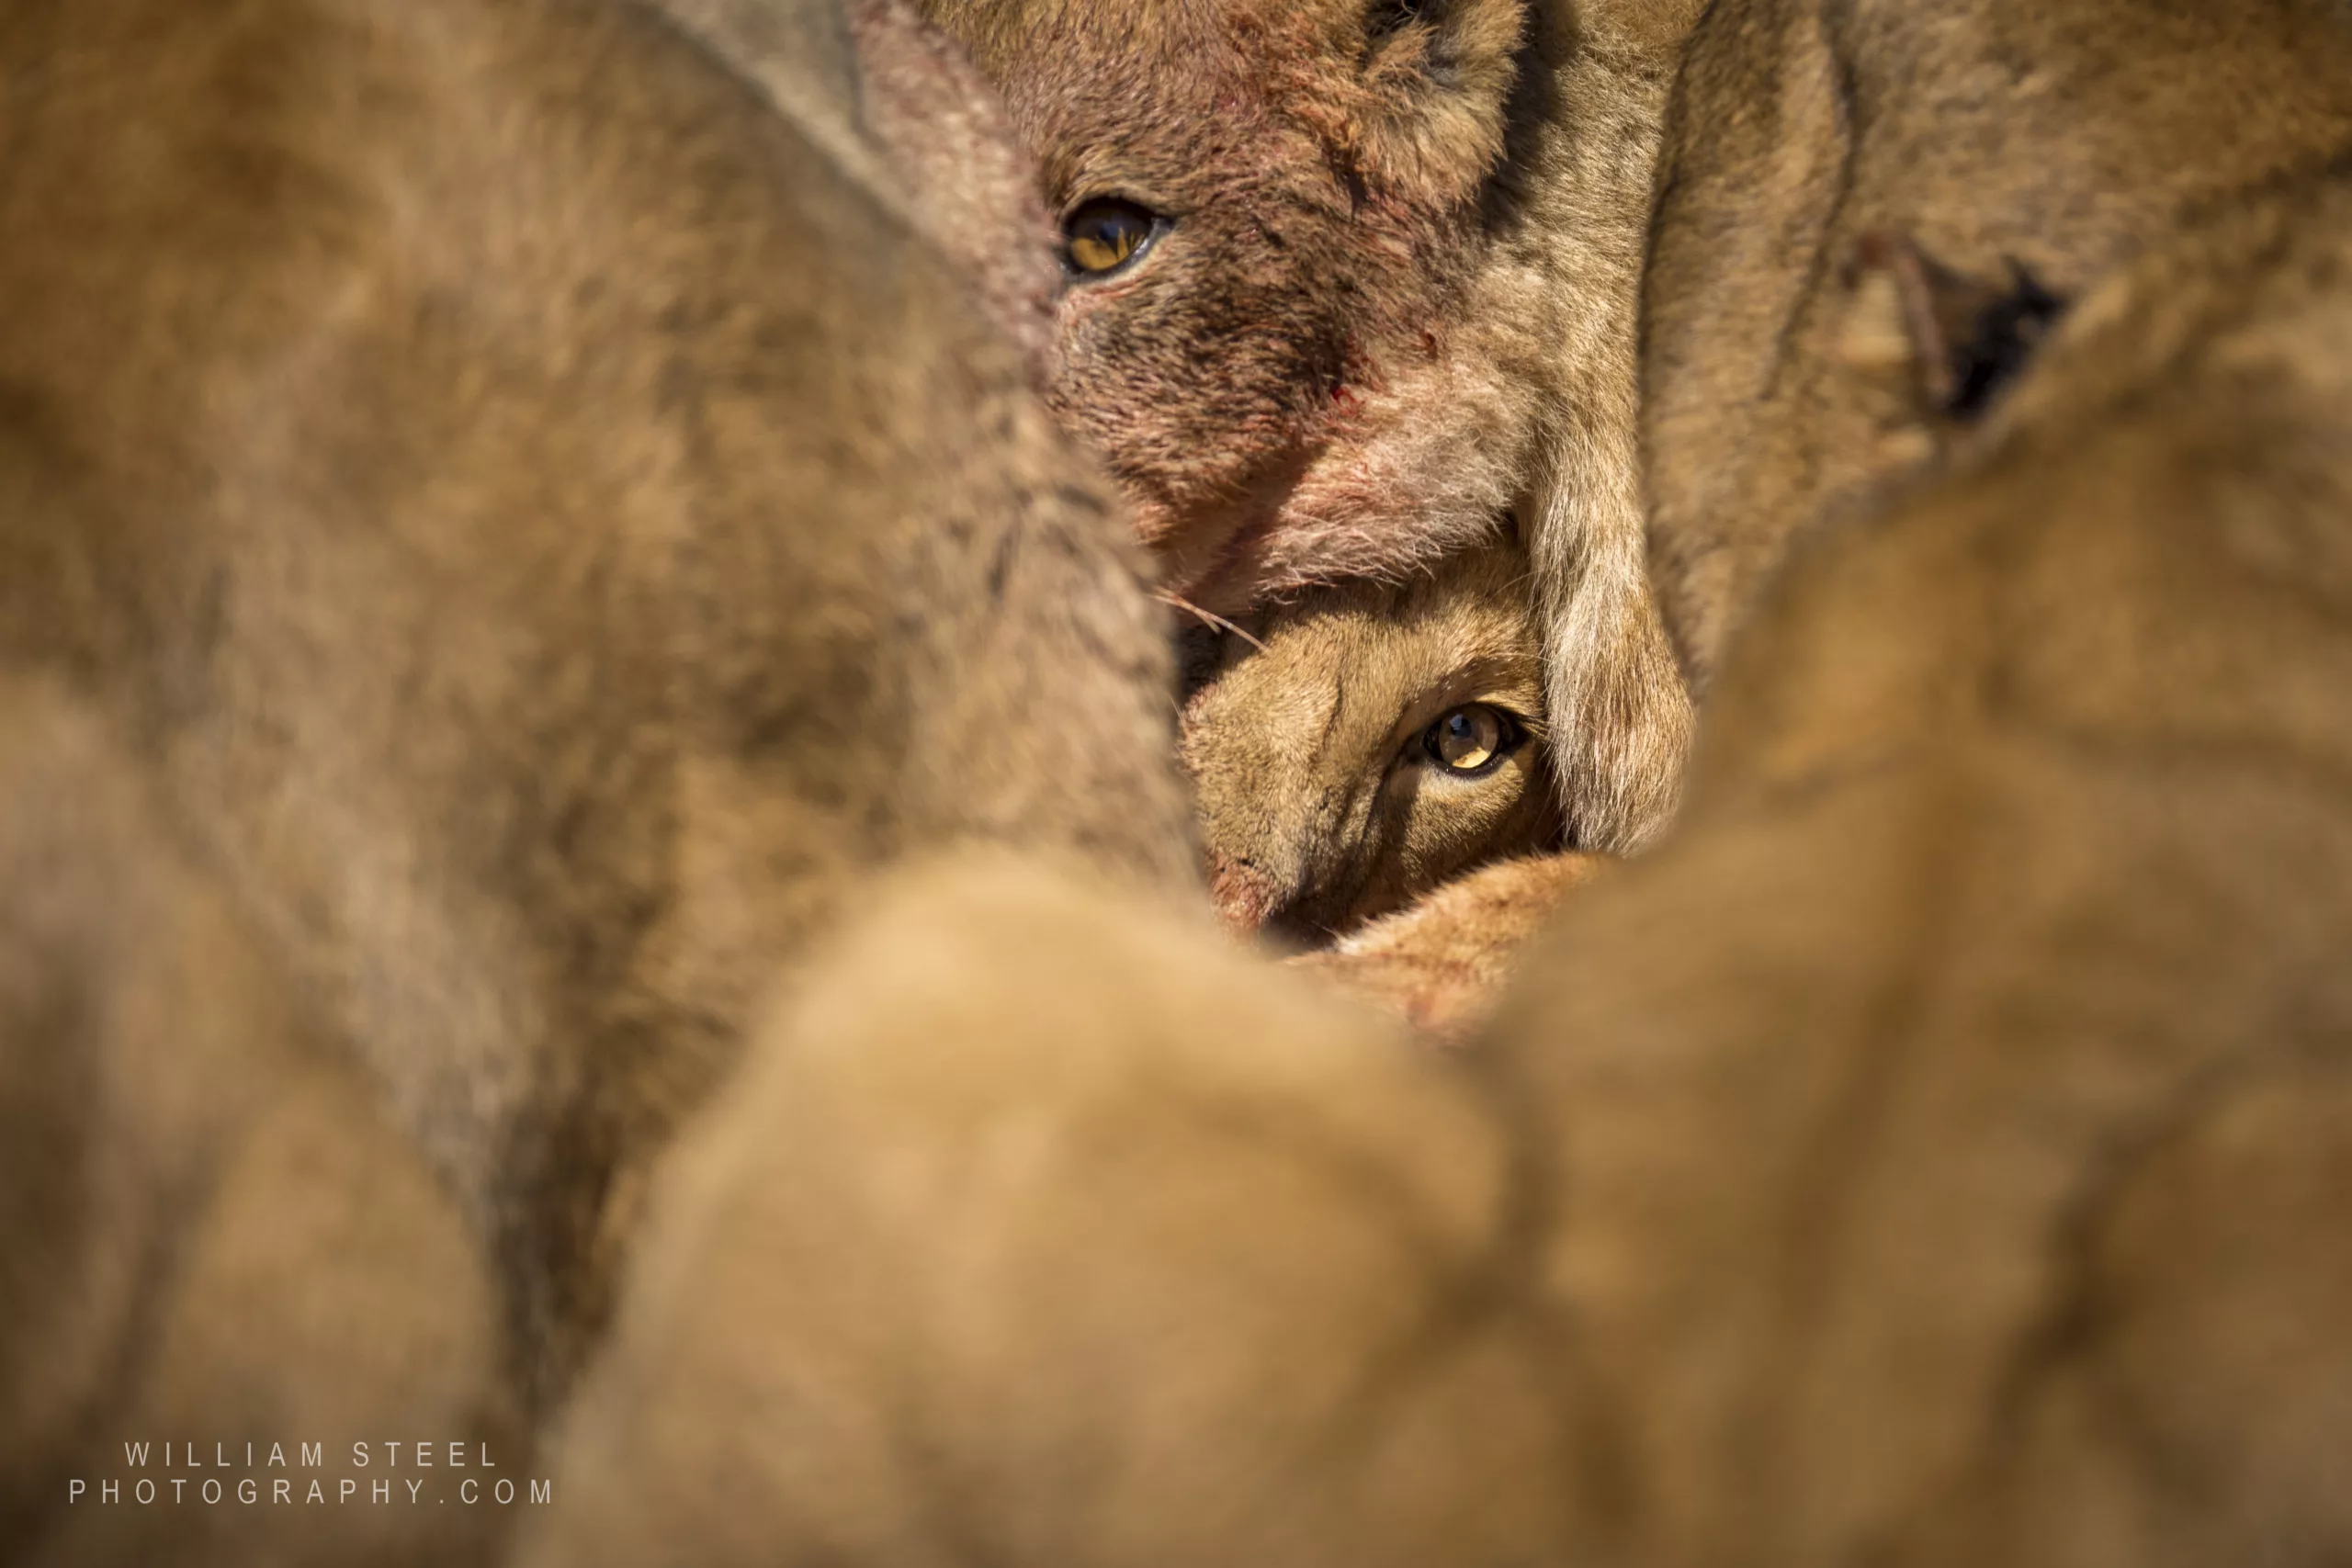
[[1192,644],[1183,759],[1232,926],[1322,943],[1559,842],[1517,548],[1317,590]]

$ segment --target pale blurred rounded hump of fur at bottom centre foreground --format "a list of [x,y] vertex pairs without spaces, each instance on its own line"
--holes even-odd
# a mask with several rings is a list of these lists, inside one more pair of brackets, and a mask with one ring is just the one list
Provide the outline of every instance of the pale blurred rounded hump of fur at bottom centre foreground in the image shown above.
[[1475,1081],[1002,860],[814,969],[663,1171],[522,1563],[1550,1561],[1573,1493],[1508,1479],[1573,1418]]

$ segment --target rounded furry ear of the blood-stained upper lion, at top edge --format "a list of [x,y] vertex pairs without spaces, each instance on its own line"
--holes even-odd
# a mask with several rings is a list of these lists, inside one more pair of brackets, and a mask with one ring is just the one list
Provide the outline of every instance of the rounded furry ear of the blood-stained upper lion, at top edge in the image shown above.
[[1461,200],[1503,158],[1524,0],[1367,0],[1357,146],[1364,174]]

